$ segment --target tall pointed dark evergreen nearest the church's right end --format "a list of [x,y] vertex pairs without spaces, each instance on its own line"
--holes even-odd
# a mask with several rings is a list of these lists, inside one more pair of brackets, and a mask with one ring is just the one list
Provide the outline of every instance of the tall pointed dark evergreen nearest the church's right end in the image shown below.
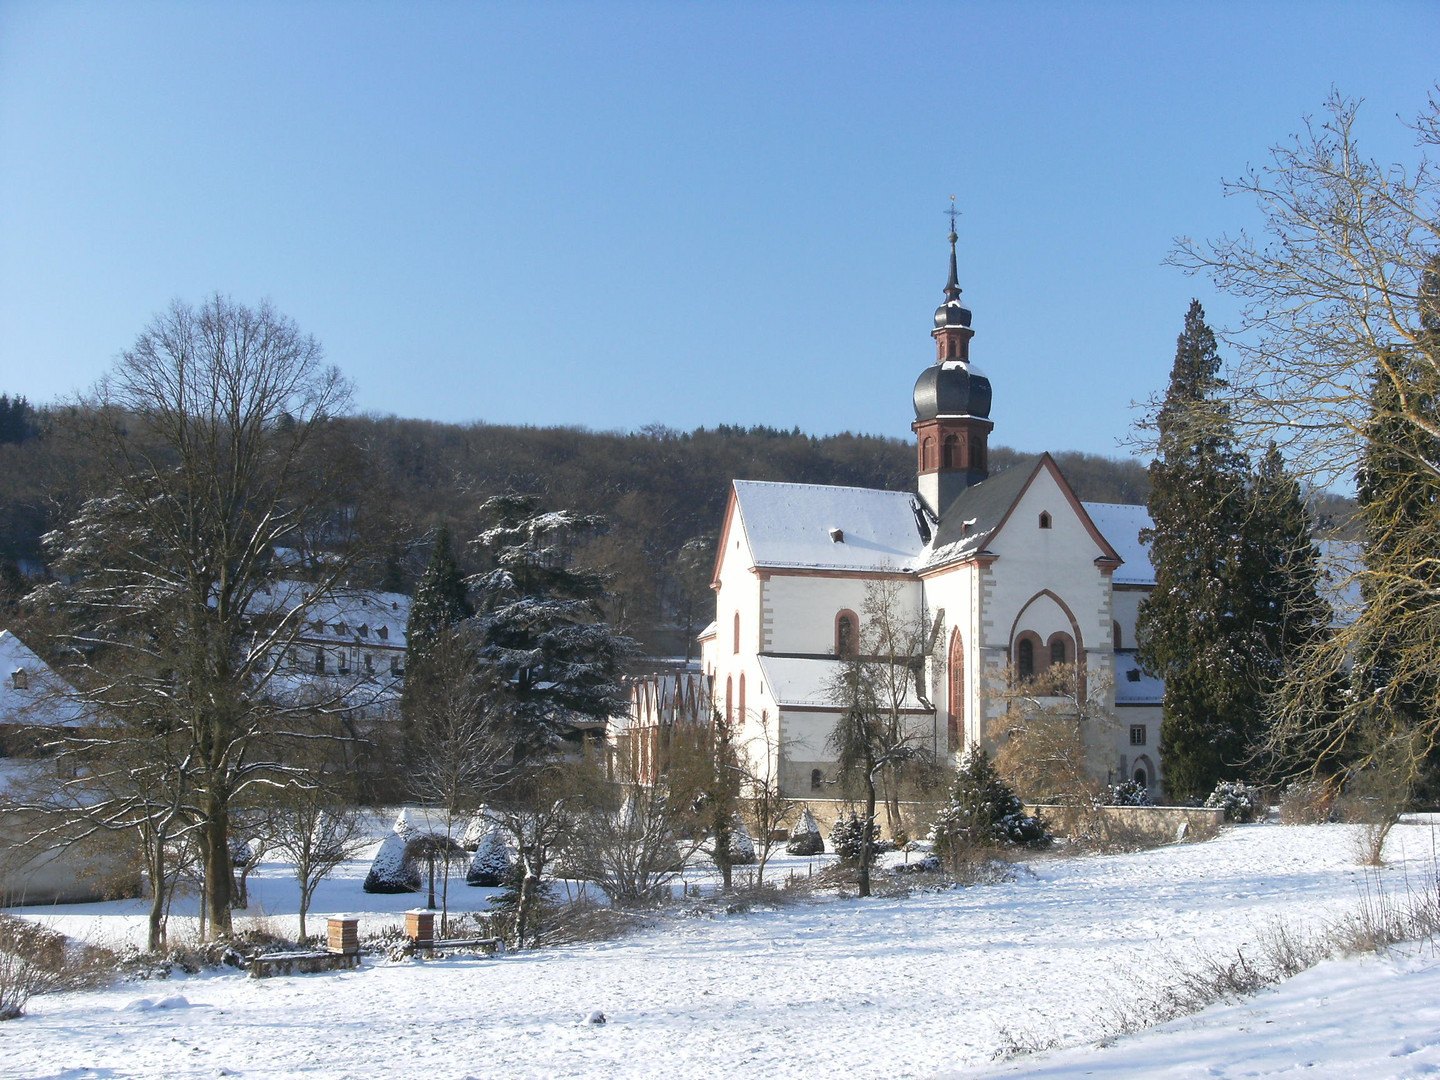
[[1257,547],[1248,462],[1220,392],[1220,353],[1191,301],[1156,416],[1149,511],[1155,590],[1140,605],[1139,661],[1165,680],[1161,756],[1171,799],[1238,775],[1263,724],[1251,600]]

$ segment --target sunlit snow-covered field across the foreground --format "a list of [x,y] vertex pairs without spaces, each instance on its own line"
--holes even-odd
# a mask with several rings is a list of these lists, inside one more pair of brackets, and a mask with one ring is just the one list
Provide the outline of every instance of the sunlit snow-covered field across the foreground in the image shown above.
[[[1433,876],[1434,835],[1430,822],[1392,832],[1388,890]],[[359,861],[321,887],[317,920],[393,922],[416,903],[366,896],[364,870]],[[284,867],[258,873],[256,906],[288,922]],[[1248,825],[1208,844],[1041,858],[1008,884],[675,917],[602,945],[45,995],[0,1024],[0,1077],[1431,1074],[1440,960],[1426,946],[1328,962],[1248,1001],[1093,1045],[1171,958],[1233,952],[1277,920],[1318,927],[1374,887],[1348,827]],[[482,891],[452,890],[461,907]],[[134,904],[20,910],[111,943],[140,923]],[[583,1022],[595,1009],[606,1024]],[[1067,1048],[994,1061],[1005,1045],[1053,1040]]]

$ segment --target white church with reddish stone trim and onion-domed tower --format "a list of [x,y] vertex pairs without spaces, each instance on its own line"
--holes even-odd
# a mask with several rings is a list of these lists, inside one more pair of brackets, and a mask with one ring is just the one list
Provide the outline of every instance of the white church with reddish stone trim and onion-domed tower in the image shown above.
[[[782,792],[834,798],[844,657],[865,639],[876,583],[893,613],[930,628],[904,714],[916,742],[958,762],[1004,737],[1009,680],[1080,665],[1116,719],[1103,780],[1159,792],[1164,685],[1135,662],[1139,600],[1155,586],[1139,541],[1145,507],[1081,503],[1048,454],[991,475],[991,380],[950,275],[935,312],[935,363],[914,383],[916,490],[734,481],[701,658],[716,708],[763,755]],[[873,612],[871,612],[873,613]]]

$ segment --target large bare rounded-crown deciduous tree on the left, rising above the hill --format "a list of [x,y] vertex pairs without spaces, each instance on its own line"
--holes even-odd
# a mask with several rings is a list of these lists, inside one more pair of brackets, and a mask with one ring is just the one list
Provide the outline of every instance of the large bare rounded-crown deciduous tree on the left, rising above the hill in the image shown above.
[[[163,802],[193,829],[216,933],[230,929],[232,805],[285,775],[307,717],[348,703],[338,684],[300,693],[282,662],[351,567],[357,465],[330,423],[348,400],[269,304],[173,304],[89,402],[107,474],[50,537],[58,580],[35,598],[65,621],[50,654],[99,733],[76,749],[104,763],[144,733],[171,744]],[[279,595],[297,575],[310,583]]]

